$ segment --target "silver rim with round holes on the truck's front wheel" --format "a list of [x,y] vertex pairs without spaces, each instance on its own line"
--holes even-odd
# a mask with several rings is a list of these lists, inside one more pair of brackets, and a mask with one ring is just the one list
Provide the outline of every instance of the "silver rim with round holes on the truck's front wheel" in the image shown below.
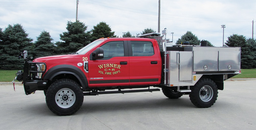
[[75,93],[68,88],[61,89],[55,95],[55,102],[61,108],[69,108],[75,103]]

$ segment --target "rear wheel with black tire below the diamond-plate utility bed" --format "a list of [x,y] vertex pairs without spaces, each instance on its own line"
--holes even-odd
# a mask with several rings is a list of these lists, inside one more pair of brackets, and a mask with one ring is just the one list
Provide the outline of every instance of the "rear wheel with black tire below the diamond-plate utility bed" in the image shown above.
[[218,97],[217,85],[209,78],[202,78],[195,86],[191,87],[189,97],[191,102],[197,107],[210,107]]

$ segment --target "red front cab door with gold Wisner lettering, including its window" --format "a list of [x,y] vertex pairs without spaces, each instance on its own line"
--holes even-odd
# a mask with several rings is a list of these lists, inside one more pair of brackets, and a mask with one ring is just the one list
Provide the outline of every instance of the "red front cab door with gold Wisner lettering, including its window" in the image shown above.
[[128,86],[127,41],[109,41],[100,47],[103,48],[104,58],[88,61],[89,87]]

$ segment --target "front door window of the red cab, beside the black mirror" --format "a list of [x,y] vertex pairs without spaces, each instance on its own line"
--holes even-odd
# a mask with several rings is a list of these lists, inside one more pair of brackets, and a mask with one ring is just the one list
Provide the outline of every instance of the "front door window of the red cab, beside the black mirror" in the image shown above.
[[101,46],[104,51],[104,58],[100,60],[108,60],[113,57],[124,56],[123,41],[111,41]]

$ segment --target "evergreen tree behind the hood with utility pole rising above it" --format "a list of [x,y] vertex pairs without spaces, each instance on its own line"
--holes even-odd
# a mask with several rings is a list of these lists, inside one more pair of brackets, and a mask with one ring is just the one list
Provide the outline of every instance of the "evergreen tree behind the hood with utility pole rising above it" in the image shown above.
[[56,42],[60,54],[74,53],[90,43],[91,35],[86,32],[85,23],[79,20],[76,22],[68,21],[66,29],[67,32],[60,34],[60,39],[64,42]]

